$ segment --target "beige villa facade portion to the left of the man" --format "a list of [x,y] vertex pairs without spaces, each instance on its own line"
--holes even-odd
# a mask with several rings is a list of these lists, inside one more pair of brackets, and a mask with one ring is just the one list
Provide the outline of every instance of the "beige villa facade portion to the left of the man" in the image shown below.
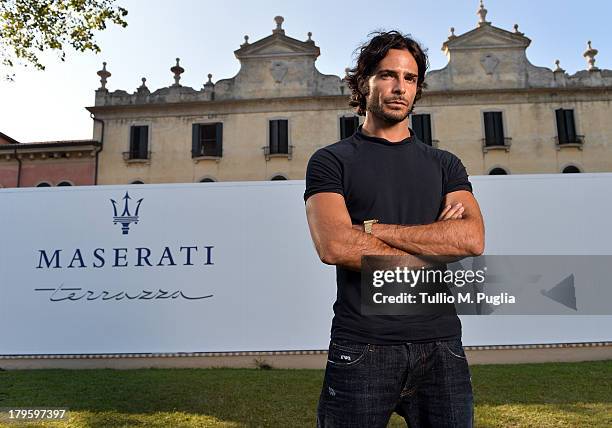
[[104,121],[100,184],[303,179],[313,151],[340,138],[338,123],[354,115],[338,76],[315,67],[320,54],[310,35],[285,34],[276,17],[272,34],[248,37],[235,51],[238,74],[208,81],[201,90],[175,83],[150,92],[109,92],[109,73],[90,107]]

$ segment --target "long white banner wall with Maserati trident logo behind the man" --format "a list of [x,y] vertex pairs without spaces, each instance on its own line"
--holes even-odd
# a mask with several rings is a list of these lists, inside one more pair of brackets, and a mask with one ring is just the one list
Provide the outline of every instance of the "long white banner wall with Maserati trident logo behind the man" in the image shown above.
[[[612,174],[471,177],[486,254],[612,254]],[[327,349],[303,181],[0,190],[0,355]],[[611,316],[462,316],[465,345],[612,339]]]

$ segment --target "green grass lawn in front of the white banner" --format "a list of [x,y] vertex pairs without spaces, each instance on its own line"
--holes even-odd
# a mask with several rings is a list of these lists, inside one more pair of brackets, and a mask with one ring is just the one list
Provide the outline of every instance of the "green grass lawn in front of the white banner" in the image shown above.
[[[612,426],[612,361],[471,371],[478,427]],[[311,427],[322,381],[322,370],[0,371],[0,407],[70,409],[69,422],[28,427]]]

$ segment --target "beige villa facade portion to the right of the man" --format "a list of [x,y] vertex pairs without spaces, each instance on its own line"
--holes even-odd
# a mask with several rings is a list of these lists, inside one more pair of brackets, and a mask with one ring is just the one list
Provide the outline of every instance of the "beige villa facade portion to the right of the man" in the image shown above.
[[530,174],[612,171],[612,70],[595,66],[569,76],[529,62],[531,41],[514,26],[486,21],[442,45],[448,64],[428,73],[416,113],[431,117],[432,139],[457,154],[468,172]]

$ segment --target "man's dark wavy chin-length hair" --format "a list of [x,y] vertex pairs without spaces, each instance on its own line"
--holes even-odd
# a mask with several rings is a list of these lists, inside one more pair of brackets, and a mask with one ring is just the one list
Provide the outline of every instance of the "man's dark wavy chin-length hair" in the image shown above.
[[421,48],[410,35],[396,30],[375,31],[368,34],[368,37],[372,38],[355,49],[355,53],[359,52],[357,65],[348,69],[344,78],[352,92],[349,105],[355,108],[358,115],[365,116],[366,97],[369,93],[368,79],[374,74],[378,63],[387,55],[389,49],[406,49],[412,54],[419,68],[416,96],[410,109],[412,113],[414,104],[421,98],[423,89],[427,88],[425,83],[425,72],[429,68],[427,49]]

